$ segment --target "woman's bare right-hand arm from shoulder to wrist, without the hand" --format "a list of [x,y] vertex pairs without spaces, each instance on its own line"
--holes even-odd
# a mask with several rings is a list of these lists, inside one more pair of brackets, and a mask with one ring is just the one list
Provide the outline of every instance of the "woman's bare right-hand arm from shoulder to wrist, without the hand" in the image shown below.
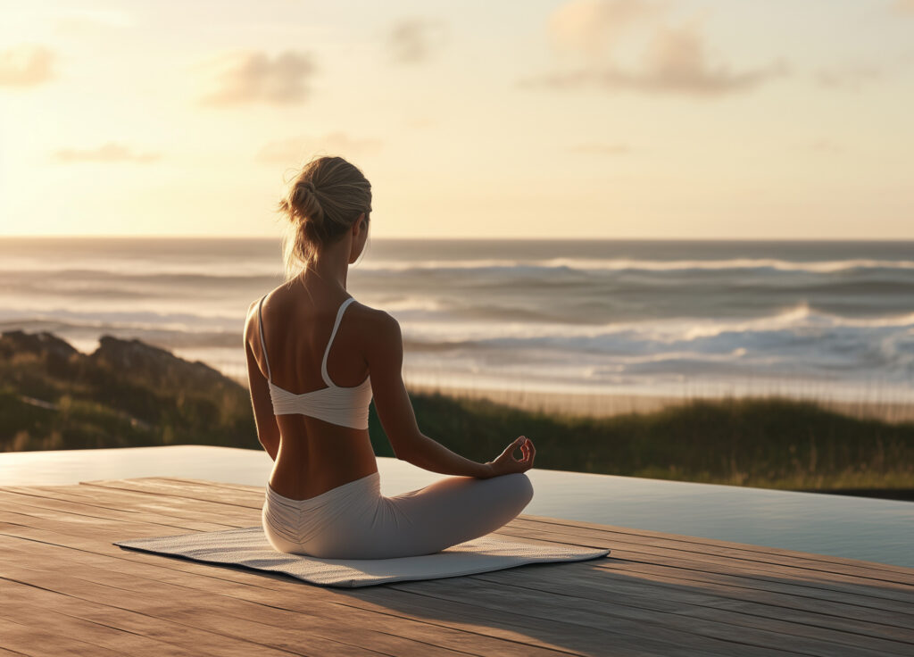
[[388,313],[372,318],[366,359],[377,418],[388,435],[394,454],[430,472],[488,478],[489,463],[477,463],[455,454],[423,434],[403,384],[403,337],[399,323]]

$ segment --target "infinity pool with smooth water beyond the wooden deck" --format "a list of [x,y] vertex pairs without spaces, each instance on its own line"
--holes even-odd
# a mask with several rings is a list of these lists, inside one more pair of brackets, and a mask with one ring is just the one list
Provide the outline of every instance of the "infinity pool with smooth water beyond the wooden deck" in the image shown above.
[[[0,486],[156,476],[265,486],[271,468],[261,450],[199,445],[7,452]],[[377,468],[385,495],[443,476],[386,457]],[[537,468],[527,474],[534,496],[525,514],[914,567],[910,502]]]

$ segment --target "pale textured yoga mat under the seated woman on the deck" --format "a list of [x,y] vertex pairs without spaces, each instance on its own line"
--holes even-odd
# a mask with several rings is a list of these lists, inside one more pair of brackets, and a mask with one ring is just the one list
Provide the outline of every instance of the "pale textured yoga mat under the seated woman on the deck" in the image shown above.
[[583,561],[610,553],[608,549],[592,547],[518,543],[490,534],[433,555],[392,559],[319,559],[277,552],[267,542],[260,525],[218,532],[134,538],[116,541],[113,545],[159,555],[182,556],[210,564],[284,573],[312,584],[344,588],[409,579],[452,578],[525,564]]

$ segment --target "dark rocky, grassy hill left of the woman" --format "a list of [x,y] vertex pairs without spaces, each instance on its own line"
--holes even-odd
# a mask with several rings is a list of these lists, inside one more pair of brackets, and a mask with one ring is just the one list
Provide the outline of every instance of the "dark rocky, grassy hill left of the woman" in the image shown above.
[[247,389],[140,340],[0,334],[0,451],[175,443],[257,446]]

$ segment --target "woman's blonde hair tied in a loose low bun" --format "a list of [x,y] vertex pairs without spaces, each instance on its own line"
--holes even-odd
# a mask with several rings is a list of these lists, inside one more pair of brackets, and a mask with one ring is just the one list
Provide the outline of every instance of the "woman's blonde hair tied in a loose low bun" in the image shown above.
[[289,219],[282,238],[286,282],[307,269],[324,247],[371,212],[371,183],[342,157],[318,157],[295,176],[278,210]]

